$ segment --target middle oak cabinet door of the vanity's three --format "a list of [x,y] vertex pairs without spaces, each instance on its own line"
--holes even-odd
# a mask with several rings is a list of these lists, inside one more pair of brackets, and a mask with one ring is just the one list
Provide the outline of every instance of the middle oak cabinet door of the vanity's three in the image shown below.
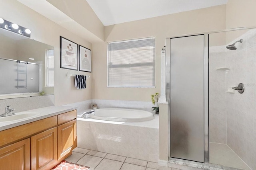
[[51,169],[57,160],[57,127],[31,137],[31,170]]

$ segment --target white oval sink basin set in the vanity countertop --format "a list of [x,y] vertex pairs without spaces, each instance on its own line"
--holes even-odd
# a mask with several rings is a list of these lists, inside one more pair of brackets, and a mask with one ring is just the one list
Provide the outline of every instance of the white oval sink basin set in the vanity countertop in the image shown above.
[[0,117],[0,122],[26,120],[26,119],[36,117],[38,115],[40,115],[40,113],[33,112],[33,111],[20,112],[20,113],[15,113],[15,115],[11,115],[11,116]]

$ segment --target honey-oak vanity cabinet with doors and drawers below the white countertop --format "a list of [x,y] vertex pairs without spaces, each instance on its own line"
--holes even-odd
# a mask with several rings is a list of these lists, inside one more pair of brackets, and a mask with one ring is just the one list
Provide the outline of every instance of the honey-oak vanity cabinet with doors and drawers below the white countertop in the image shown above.
[[48,170],[76,147],[76,110],[0,131],[0,170]]

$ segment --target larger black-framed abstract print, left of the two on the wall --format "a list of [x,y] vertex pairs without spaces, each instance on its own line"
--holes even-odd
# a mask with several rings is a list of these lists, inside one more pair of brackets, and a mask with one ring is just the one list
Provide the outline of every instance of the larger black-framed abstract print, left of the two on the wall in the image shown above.
[[78,70],[78,45],[61,36],[60,68]]

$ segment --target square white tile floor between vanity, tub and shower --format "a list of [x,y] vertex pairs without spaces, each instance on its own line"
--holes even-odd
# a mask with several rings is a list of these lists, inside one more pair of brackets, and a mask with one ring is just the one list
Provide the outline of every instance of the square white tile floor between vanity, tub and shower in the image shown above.
[[76,148],[66,161],[89,166],[90,170],[176,170],[158,163],[94,150]]

